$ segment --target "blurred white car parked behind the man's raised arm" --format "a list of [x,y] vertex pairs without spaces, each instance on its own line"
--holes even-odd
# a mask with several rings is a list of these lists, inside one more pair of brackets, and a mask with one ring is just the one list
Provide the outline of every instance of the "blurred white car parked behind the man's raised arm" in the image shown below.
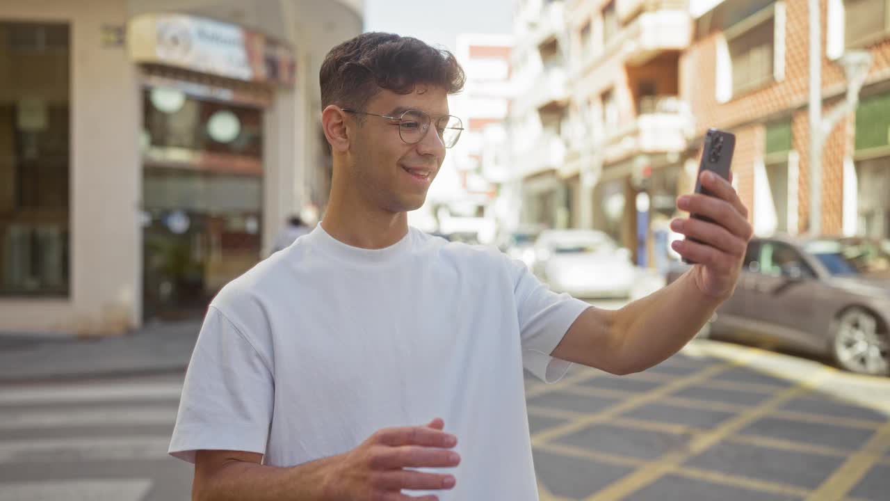
[[636,269],[630,251],[595,230],[546,230],[535,243],[535,273],[579,299],[628,298]]

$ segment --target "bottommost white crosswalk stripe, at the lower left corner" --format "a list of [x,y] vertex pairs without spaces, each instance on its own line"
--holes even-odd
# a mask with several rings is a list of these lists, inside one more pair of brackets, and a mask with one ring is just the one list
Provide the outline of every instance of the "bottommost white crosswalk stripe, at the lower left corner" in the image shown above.
[[0,483],[0,501],[141,501],[151,483],[150,479]]

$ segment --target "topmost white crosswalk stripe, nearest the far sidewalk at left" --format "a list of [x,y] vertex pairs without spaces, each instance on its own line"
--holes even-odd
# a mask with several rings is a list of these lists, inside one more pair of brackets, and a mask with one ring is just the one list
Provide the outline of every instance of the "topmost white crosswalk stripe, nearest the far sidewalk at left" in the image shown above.
[[69,404],[95,400],[175,398],[182,395],[181,382],[150,382],[96,386],[51,386],[45,388],[0,388],[0,406]]

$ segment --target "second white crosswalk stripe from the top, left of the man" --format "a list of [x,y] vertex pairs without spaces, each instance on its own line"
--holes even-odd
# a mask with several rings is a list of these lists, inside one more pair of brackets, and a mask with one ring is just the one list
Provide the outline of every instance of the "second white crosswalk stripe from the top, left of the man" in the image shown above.
[[121,408],[121,409],[51,409],[45,412],[0,412],[0,430],[20,428],[61,428],[65,426],[111,424],[173,425],[176,408]]

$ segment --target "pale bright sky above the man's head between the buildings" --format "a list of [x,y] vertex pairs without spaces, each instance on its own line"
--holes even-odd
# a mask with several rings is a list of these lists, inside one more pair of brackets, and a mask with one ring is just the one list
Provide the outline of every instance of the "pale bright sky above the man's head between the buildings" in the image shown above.
[[460,33],[511,33],[514,0],[365,0],[365,31],[417,37],[452,52]]

